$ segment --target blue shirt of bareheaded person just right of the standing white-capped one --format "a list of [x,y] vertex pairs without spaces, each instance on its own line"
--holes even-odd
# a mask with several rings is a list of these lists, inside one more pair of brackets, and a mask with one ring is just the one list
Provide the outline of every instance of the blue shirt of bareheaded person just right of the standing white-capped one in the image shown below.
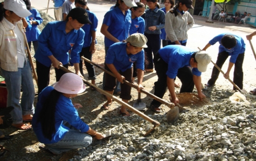
[[130,35],[134,33],[144,34],[145,20],[142,17],[135,17],[132,19],[132,24],[130,25]]

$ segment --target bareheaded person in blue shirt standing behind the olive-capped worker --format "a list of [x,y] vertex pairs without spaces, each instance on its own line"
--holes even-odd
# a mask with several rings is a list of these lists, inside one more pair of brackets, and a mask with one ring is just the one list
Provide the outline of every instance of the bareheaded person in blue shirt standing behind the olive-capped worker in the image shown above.
[[[145,28],[145,21],[141,17],[141,15],[145,11],[145,5],[141,2],[136,2],[137,6],[134,6],[130,8],[130,11],[132,11],[132,24],[130,25],[130,32],[129,34],[132,35],[134,33],[141,33],[144,34],[144,28]],[[135,77],[137,77],[137,68],[136,63],[133,63],[133,79],[132,82],[135,83]]]

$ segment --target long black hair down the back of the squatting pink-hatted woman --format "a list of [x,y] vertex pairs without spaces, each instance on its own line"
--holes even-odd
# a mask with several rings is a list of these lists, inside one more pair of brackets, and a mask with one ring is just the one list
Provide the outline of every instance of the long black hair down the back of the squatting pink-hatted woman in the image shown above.
[[[47,139],[52,140],[52,135],[56,133],[55,129],[55,111],[60,92],[52,90],[50,95],[43,103],[43,107],[38,116],[37,122],[41,123],[41,130]],[[40,101],[40,100],[39,100]]]

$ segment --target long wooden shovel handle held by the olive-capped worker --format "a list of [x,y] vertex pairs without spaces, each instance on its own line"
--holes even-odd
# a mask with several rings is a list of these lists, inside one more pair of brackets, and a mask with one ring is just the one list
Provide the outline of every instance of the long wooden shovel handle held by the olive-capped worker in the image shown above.
[[[95,64],[94,62],[88,60],[88,58],[85,58],[84,56],[81,56],[81,58],[84,59],[85,61],[87,61],[88,63],[91,63],[91,64],[95,65],[96,67],[100,68],[101,70],[105,71],[105,72],[106,72],[107,74],[109,74],[110,76],[116,77],[112,72],[110,72],[110,71],[108,71],[108,70],[106,70],[106,69],[100,67],[100,65]],[[133,83],[130,83],[130,82],[128,82],[127,80],[123,80],[123,82],[124,82],[125,84],[129,85],[129,86],[134,87],[135,89],[138,88],[137,85],[134,85]],[[154,94],[149,93],[149,92],[147,92],[147,91],[145,91],[145,90],[143,90],[143,89],[141,89],[140,92],[147,94],[147,96],[149,96],[149,97],[151,97],[151,98],[154,98],[155,100],[159,101],[160,103],[162,103],[162,104],[164,104],[164,105],[167,105],[169,108],[174,108],[174,106],[175,106],[173,103],[169,103],[168,101],[165,101],[165,100],[163,100],[163,99],[161,99],[161,98],[155,96]]]

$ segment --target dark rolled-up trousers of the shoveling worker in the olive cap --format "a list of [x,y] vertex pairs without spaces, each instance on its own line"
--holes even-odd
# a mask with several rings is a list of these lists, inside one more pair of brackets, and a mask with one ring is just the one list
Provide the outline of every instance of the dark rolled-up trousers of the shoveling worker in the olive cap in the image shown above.
[[[110,71],[107,65],[105,65],[105,69]],[[119,73],[120,75],[124,76],[128,82],[132,82],[133,67],[123,72],[120,70]],[[116,86],[116,78],[113,76],[110,76],[106,72],[105,72],[105,78],[106,78],[106,82],[105,82],[105,86],[103,87],[103,90],[113,91],[114,87]],[[130,100],[132,98],[132,96],[130,96],[131,87],[125,83],[123,84],[120,83],[120,86],[121,86],[120,98]]]

